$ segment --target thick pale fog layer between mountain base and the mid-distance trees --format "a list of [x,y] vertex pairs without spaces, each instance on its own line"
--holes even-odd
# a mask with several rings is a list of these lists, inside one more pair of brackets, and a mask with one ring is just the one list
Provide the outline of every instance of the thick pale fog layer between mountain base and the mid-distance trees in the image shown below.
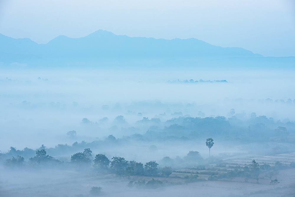
[[[40,77],[38,79],[38,77]],[[168,83],[168,80],[227,80],[227,83]],[[73,143],[66,133],[76,130],[78,140],[117,138],[145,133],[137,120],[179,116],[240,119],[252,112],[275,120],[294,120],[293,72],[128,71],[128,70],[3,70],[0,73],[0,150],[41,144],[54,147]],[[291,99],[288,101],[288,99]],[[127,125],[112,121],[123,115]],[[81,126],[83,118],[104,126]],[[121,127],[136,130],[122,132]]]

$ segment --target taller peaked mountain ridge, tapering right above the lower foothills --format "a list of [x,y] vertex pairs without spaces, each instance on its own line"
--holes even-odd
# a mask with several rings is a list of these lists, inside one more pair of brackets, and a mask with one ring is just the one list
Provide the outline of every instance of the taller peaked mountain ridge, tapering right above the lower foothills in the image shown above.
[[[190,39],[155,39],[119,36],[98,30],[86,37],[58,36],[47,44],[37,44],[28,38],[14,39],[0,34],[0,58],[25,59],[217,59],[229,57],[263,57],[243,48],[217,47]],[[9,54],[5,57],[4,54]],[[13,55],[14,54],[14,55]],[[0,59],[0,62],[3,61]]]

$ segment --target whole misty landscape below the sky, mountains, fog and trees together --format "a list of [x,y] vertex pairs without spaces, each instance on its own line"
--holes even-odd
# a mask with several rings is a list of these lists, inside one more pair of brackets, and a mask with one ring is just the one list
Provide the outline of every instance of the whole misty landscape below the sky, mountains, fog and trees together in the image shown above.
[[0,34],[0,196],[295,196],[295,57]]

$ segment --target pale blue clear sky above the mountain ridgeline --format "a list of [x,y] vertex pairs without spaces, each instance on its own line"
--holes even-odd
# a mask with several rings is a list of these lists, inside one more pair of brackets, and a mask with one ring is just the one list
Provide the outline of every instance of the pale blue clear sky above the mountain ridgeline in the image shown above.
[[103,29],[117,35],[196,38],[264,56],[295,56],[294,0],[0,0],[0,33],[37,43]]

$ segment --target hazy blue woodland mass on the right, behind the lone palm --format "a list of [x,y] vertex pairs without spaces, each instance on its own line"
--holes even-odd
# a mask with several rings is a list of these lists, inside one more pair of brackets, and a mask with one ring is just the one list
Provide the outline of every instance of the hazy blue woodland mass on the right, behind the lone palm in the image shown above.
[[[233,110],[233,109],[232,109]],[[146,129],[145,134],[131,135],[129,138],[143,141],[160,140],[195,140],[200,137],[218,137],[220,140],[233,140],[235,142],[288,142],[293,139],[286,138],[289,134],[295,134],[295,122],[290,120],[275,121],[272,117],[256,116],[253,112],[251,118],[242,120],[244,114],[235,114],[231,110],[232,116],[226,118],[224,116],[217,117],[186,117],[179,112],[179,117],[172,118],[165,122],[161,122],[160,118],[143,117],[142,120],[135,122],[135,127],[130,127],[124,116],[117,116],[112,122],[110,131],[132,133]],[[175,113],[176,114],[176,113]],[[104,117],[106,120],[107,117]],[[82,120],[82,124],[99,126],[100,123],[94,123],[87,118]],[[119,130],[121,128],[121,130]]]

